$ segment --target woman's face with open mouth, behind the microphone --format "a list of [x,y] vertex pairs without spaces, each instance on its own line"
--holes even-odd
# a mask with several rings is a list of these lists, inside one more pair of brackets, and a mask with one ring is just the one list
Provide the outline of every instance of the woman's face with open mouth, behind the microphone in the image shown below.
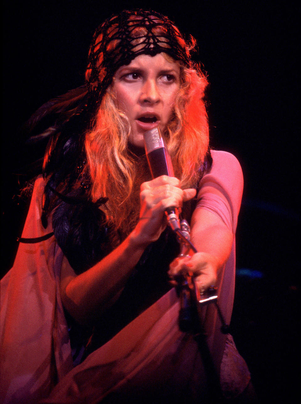
[[143,133],[169,121],[180,88],[180,66],[159,53],[139,55],[114,76],[117,106],[130,120],[129,141],[144,147]]

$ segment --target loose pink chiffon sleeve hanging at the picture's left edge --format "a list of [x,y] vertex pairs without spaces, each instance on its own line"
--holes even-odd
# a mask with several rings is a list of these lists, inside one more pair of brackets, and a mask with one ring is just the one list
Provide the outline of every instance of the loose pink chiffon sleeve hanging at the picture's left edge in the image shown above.
[[[36,180],[22,237],[52,231],[41,223],[44,181]],[[71,368],[67,323],[59,293],[63,252],[54,236],[19,244],[12,269],[1,280],[0,396],[5,403],[32,403],[47,396],[54,372]]]

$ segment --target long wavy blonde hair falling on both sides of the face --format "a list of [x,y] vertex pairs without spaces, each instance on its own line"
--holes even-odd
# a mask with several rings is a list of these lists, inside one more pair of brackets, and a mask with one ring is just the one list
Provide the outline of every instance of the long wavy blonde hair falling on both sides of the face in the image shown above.
[[[197,186],[200,166],[209,147],[209,128],[204,101],[206,76],[199,67],[186,68],[180,63],[180,80],[180,90],[163,135],[175,176],[184,189]],[[107,225],[121,238],[136,225],[140,185],[151,179],[145,156],[138,157],[129,148],[130,130],[130,122],[117,108],[110,86],[92,129],[86,132],[85,147],[92,180],[90,198],[92,201],[109,198],[100,209],[105,213]]]

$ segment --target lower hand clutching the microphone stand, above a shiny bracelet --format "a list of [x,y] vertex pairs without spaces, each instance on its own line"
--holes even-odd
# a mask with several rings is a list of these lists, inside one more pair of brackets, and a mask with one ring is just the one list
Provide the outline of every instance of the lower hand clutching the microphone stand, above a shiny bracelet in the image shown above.
[[220,261],[207,252],[196,252],[191,257],[176,258],[169,265],[168,275],[171,283],[176,286],[180,275],[192,275],[203,293],[209,287],[215,286]]

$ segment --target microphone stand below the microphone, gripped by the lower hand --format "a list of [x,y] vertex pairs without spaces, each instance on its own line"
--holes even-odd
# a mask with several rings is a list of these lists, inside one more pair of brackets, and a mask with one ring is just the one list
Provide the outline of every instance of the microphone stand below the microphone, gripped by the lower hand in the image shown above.
[[[180,229],[174,230],[178,235],[180,243],[179,258],[191,257],[192,253],[197,252],[196,248],[190,242],[190,226],[186,220],[180,222]],[[215,288],[209,288],[206,292],[201,293],[196,285],[193,274],[188,271],[185,275],[180,275],[176,281],[178,282],[177,291],[180,297],[179,327],[183,332],[189,332],[193,335],[201,353],[209,389],[212,392],[211,398],[213,403],[222,403],[224,398],[219,382],[219,375],[215,369],[213,359],[207,343],[207,335],[203,326],[202,307],[210,303],[215,304],[217,313],[222,323],[221,331],[228,333],[229,326],[226,324],[222,312],[217,304],[217,294]]]

